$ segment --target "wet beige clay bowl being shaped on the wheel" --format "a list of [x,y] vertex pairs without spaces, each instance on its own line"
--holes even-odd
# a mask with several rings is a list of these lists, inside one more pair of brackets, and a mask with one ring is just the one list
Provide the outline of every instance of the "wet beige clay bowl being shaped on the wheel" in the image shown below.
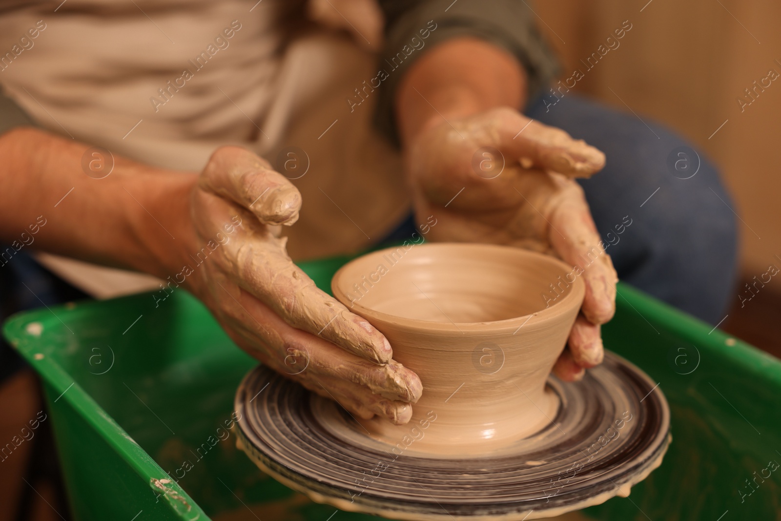
[[495,454],[542,430],[559,407],[547,376],[585,292],[571,273],[551,256],[490,244],[415,244],[348,262],[334,296],[423,382],[407,425],[359,422],[376,440],[444,457]]

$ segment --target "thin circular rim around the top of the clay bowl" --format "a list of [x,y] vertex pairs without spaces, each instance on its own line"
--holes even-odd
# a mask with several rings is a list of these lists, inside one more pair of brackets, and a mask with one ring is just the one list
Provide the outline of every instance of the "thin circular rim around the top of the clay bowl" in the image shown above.
[[[466,331],[470,333],[486,332],[486,333],[503,333],[505,330],[517,330],[524,324],[529,322],[529,329],[536,330],[537,327],[541,327],[544,323],[551,320],[558,319],[560,316],[568,314],[571,311],[572,302],[577,301],[577,309],[580,310],[580,305],[583,304],[583,298],[586,294],[586,284],[582,280],[582,275],[575,277],[575,281],[569,283],[572,285],[572,290],[568,294],[565,294],[564,298],[557,299],[557,302],[547,308],[540,309],[539,311],[528,313],[523,316],[517,316],[510,319],[502,320],[490,320],[486,322],[437,322],[434,320],[422,320],[422,319],[410,319],[403,316],[391,315],[390,313],[380,312],[376,309],[369,308],[362,305],[358,301],[350,302],[339,283],[344,277],[344,273],[349,269],[349,266],[354,265],[356,262],[362,261],[369,256],[382,256],[384,253],[396,251],[400,246],[391,246],[390,248],[383,248],[375,250],[373,252],[360,255],[350,262],[344,264],[337,270],[337,273],[333,274],[331,279],[331,292],[334,298],[341,302],[344,307],[350,312],[354,312],[356,315],[360,315],[369,322],[377,326],[379,323],[393,324],[394,327],[403,327],[408,330],[416,330],[422,333],[425,332],[440,332],[440,333],[457,333],[463,334]],[[519,255],[519,257],[525,257],[526,259],[536,259],[537,262],[547,262],[549,264],[555,264],[558,268],[562,269],[562,273],[569,273],[574,269],[574,266],[569,266],[568,263],[558,259],[552,255],[546,255],[539,252],[533,252],[524,248],[516,246],[506,246],[504,244],[485,244],[485,243],[464,243],[464,242],[437,242],[430,243],[424,242],[422,244],[415,244],[415,248],[480,248],[487,250],[487,254],[491,250],[494,252],[512,251],[513,255]],[[412,249],[412,248],[410,248]],[[569,280],[568,280],[569,282]],[[537,316],[537,319],[531,320],[533,316]]]

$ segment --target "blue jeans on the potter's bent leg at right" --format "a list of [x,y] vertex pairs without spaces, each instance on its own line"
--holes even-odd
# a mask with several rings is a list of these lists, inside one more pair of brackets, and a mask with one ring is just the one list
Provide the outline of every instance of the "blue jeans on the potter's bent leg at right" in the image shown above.
[[[550,98],[547,105],[556,101]],[[686,141],[658,123],[643,123],[572,94],[552,106],[545,101],[533,102],[526,115],[566,130],[607,156],[604,170],[580,185],[604,244],[610,244],[607,252],[619,278],[718,323],[735,287],[737,248],[733,202],[714,166],[696,152],[699,170],[684,179],[697,160],[689,154],[690,164],[681,162],[676,170],[683,157],[676,149]],[[631,225],[621,228],[629,222],[626,216]],[[413,231],[408,219],[391,237],[405,239]]]

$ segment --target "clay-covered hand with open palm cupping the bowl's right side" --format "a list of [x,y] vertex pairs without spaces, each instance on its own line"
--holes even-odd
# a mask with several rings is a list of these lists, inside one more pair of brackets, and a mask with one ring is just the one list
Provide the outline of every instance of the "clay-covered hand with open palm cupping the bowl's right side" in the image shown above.
[[[600,324],[615,312],[618,278],[572,178],[601,170],[604,154],[564,130],[500,108],[426,127],[408,145],[405,166],[415,214],[437,217],[431,240],[514,245],[576,267],[572,277],[583,277],[586,297],[554,371],[576,380],[599,364]],[[555,298],[551,291],[540,305]]]

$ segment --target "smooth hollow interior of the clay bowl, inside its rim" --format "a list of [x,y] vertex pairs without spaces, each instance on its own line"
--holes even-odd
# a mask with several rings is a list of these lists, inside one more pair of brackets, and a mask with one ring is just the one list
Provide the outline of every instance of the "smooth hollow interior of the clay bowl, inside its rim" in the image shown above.
[[429,322],[493,322],[562,302],[574,287],[571,272],[558,259],[519,248],[420,244],[349,262],[333,289],[354,309]]

